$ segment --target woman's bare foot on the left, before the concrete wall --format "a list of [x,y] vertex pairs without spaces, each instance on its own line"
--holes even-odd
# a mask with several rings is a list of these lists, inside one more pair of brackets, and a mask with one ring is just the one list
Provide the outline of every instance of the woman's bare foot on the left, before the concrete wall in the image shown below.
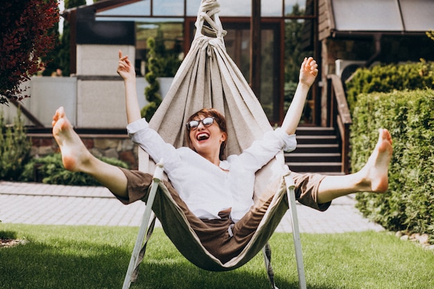
[[62,152],[64,168],[72,171],[83,171],[85,163],[89,161],[90,152],[73,130],[63,107],[55,112],[52,125],[54,139],[59,145],[60,152]]

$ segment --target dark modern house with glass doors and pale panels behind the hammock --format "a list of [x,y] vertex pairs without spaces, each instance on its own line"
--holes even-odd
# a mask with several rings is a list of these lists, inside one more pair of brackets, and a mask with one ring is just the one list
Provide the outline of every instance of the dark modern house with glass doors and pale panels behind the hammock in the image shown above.
[[[252,85],[270,123],[279,124],[284,117],[284,64],[292,61],[291,56],[297,58],[297,68],[300,55],[313,55],[318,60],[320,77],[311,89],[306,106],[310,112],[304,125],[339,128],[342,155],[347,146],[342,128],[348,127],[351,119],[336,121],[336,114],[345,112],[334,112],[334,103],[345,101],[345,92],[331,93],[336,89],[331,89],[331,80],[345,80],[357,67],[376,62],[434,60],[434,41],[425,34],[434,29],[431,0],[219,2],[220,19],[227,30],[227,51]],[[116,75],[117,51],[121,49],[134,60],[139,75],[145,73],[149,36],[161,37],[168,51],[182,57],[193,40],[199,5],[200,0],[103,0],[65,11],[64,18],[71,26],[73,74],[55,80],[68,82],[55,89],[49,89],[45,80],[32,80],[32,91],[40,92],[33,94],[29,112],[49,126],[55,107],[64,105],[78,129],[123,131],[125,105],[123,85]],[[300,10],[304,12],[297,13]],[[293,26],[302,29],[290,31],[302,34],[301,41],[289,41],[288,28]],[[293,49],[287,54],[286,44]],[[44,82],[43,93],[38,90],[42,85],[38,82]],[[144,79],[138,78],[139,96],[145,86]],[[336,95],[343,98],[334,100]],[[146,103],[144,98],[139,99],[141,104]]]

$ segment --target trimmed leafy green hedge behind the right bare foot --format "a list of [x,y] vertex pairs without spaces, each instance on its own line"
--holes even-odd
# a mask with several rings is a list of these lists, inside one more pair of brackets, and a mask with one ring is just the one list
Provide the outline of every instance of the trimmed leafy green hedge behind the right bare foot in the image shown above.
[[351,127],[351,168],[361,169],[378,139],[378,128],[392,134],[389,190],[360,193],[364,216],[393,231],[434,237],[434,91],[361,94]]

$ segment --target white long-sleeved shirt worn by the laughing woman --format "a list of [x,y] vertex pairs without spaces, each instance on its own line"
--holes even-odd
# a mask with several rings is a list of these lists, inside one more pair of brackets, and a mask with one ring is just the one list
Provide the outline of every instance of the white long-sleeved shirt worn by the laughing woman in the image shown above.
[[[230,155],[220,167],[190,148],[166,143],[145,119],[127,126],[134,143],[154,161],[164,159],[164,171],[187,207],[198,218],[219,219],[218,212],[232,208],[231,218],[240,220],[253,204],[254,174],[283,148],[295,150],[295,134],[284,130],[266,132],[241,155]],[[225,172],[224,170],[229,170]]]

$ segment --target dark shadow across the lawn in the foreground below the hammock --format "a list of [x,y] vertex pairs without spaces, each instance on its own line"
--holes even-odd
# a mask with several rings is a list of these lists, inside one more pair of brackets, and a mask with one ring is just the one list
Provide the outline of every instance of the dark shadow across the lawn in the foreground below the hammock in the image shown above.
[[[13,232],[1,233],[14,235]],[[0,249],[0,288],[122,288],[130,254],[119,246],[71,243],[62,239],[3,248]],[[229,272],[208,272],[192,265],[180,254],[174,258],[162,257],[161,253],[149,255],[145,256],[139,278],[130,288],[270,288],[262,266],[245,265]],[[276,278],[280,289],[299,288],[297,279]]]

